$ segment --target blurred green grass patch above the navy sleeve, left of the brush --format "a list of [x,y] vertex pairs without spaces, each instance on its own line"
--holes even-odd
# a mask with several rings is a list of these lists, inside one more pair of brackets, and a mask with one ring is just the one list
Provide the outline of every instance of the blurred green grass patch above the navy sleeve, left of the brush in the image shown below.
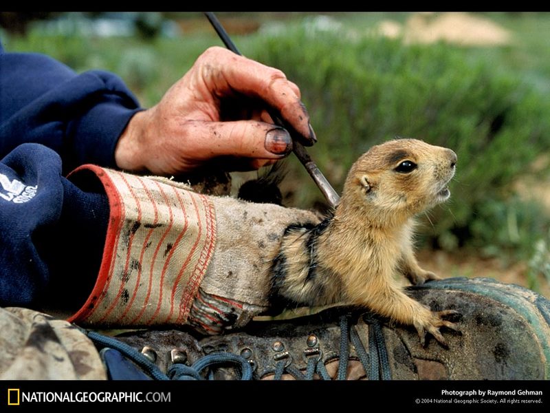
[[197,57],[217,43],[215,34],[190,34],[181,39],[159,37],[143,42],[133,37],[45,36],[39,30],[32,30],[25,38],[4,41],[6,50],[47,54],[76,72],[91,69],[114,72],[129,85],[144,107],[157,103]]

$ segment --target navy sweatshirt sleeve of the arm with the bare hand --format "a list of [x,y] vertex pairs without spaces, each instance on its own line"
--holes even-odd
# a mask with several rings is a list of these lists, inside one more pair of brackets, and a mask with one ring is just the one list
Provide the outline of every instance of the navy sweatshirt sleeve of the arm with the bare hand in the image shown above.
[[114,74],[76,74],[48,56],[0,45],[0,157],[34,142],[61,156],[64,173],[85,163],[115,167],[118,138],[140,110]]

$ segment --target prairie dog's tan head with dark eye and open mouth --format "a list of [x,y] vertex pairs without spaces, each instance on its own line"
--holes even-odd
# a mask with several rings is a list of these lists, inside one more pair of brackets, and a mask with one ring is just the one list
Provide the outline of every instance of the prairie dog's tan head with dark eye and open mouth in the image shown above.
[[372,147],[353,164],[342,201],[378,215],[410,217],[449,198],[447,184],[455,165],[451,149],[416,139],[391,140]]

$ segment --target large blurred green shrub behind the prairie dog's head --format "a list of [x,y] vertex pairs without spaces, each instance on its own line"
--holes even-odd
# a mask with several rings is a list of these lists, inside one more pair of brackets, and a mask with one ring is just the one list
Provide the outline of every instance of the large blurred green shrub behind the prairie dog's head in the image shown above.
[[[533,160],[550,147],[549,102],[516,72],[443,43],[404,45],[300,28],[259,36],[248,47],[250,56],[300,85],[319,138],[311,154],[338,189],[371,145],[395,136],[421,138],[459,157],[452,200],[430,212],[425,237],[448,249],[508,248],[528,242],[533,222],[547,225],[539,209],[538,218],[518,220],[525,235],[498,235],[509,209],[524,218],[532,212],[525,202],[511,207],[506,200],[511,184],[535,173]],[[313,183],[302,181],[299,188],[300,206],[322,200]]]

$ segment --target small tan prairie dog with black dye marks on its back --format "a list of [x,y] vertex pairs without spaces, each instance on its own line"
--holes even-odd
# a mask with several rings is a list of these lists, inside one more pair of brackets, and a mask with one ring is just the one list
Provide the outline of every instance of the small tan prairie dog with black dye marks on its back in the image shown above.
[[352,304],[415,326],[421,342],[440,343],[441,319],[408,297],[394,279],[438,279],[413,253],[414,217],[447,200],[456,153],[415,139],[372,147],[351,167],[333,216],[317,225],[289,226],[272,264],[272,298],[286,304]]

